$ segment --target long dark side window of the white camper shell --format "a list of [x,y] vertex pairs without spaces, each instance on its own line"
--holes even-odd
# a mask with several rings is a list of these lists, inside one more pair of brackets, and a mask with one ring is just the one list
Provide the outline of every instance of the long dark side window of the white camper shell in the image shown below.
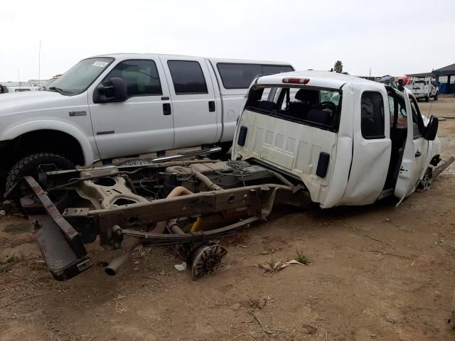
[[294,71],[290,65],[218,63],[216,66],[225,89],[248,89],[257,75]]

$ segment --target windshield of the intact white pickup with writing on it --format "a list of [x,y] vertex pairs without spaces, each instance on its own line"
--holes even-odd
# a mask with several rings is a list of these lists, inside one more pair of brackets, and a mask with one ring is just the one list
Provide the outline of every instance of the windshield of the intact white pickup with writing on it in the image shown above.
[[48,90],[62,94],[80,94],[87,90],[114,58],[89,58],[81,60],[60,78],[54,80]]

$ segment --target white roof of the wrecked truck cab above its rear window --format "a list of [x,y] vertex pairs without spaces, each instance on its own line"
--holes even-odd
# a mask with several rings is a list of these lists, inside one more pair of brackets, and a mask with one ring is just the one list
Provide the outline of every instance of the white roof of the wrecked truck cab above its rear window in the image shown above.
[[[373,82],[372,80],[365,80],[360,77],[351,75],[343,75],[342,73],[329,72],[329,71],[294,71],[294,72],[283,72],[277,75],[267,75],[259,77],[256,85],[282,85],[289,83],[283,83],[283,78],[295,77],[295,78],[306,78],[309,82],[307,86],[311,87],[328,87],[332,89],[339,89],[346,83],[367,83],[369,85],[378,85],[378,87],[384,87],[383,84]],[[292,86],[292,84],[291,84]]]

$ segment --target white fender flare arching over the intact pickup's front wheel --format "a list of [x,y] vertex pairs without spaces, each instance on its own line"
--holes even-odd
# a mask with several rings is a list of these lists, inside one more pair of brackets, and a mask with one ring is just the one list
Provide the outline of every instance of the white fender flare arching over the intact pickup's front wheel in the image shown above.
[[95,156],[87,136],[85,136],[80,129],[77,129],[72,124],[62,121],[43,119],[39,121],[23,122],[6,130],[4,134],[0,136],[0,141],[16,139],[18,136],[38,130],[55,130],[73,136],[73,138],[75,138],[80,144],[85,165],[91,165],[94,163]]

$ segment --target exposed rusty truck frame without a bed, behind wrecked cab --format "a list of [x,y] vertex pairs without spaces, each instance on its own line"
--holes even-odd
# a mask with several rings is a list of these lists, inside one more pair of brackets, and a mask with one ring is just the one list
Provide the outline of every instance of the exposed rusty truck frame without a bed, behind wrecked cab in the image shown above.
[[[178,254],[193,266],[193,278],[199,278],[226,253],[214,239],[264,220],[273,205],[309,203],[304,190],[284,175],[242,161],[158,160],[41,173],[40,178],[46,192],[32,177],[24,178],[33,193],[22,197],[21,205],[51,274],[60,281],[92,266],[84,244],[97,237],[104,249],[124,249],[107,274],[116,274],[134,247],[146,243],[178,245]],[[80,205],[60,214],[59,198],[74,191]]]

